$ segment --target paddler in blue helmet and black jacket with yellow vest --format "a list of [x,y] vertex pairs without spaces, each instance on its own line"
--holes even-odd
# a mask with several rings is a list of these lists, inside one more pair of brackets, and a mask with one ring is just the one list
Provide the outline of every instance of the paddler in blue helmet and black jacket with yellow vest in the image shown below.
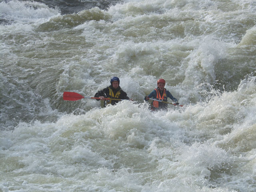
[[[129,100],[129,97],[127,96],[126,92],[124,92],[119,84],[120,80],[118,77],[112,77],[110,80],[110,86],[104,88],[103,90],[98,91],[94,97],[99,97],[100,100],[104,100],[104,107],[106,107],[108,104],[115,105],[120,100],[105,100],[104,98],[114,98],[114,99],[127,99]],[[96,99],[99,101],[99,99]]]

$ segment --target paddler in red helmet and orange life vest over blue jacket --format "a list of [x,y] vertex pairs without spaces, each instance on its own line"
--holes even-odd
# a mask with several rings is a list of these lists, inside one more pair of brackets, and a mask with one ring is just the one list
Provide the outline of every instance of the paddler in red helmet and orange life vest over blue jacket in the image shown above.
[[[167,102],[167,98],[170,98],[172,101],[175,102],[174,105],[179,105],[178,100],[172,96],[172,94],[164,88],[165,80],[158,79],[157,80],[157,88],[155,88],[148,96],[145,96],[145,100],[149,100],[149,98],[162,100]],[[152,101],[150,104],[150,110],[156,111],[159,109],[167,109],[167,103]]]

